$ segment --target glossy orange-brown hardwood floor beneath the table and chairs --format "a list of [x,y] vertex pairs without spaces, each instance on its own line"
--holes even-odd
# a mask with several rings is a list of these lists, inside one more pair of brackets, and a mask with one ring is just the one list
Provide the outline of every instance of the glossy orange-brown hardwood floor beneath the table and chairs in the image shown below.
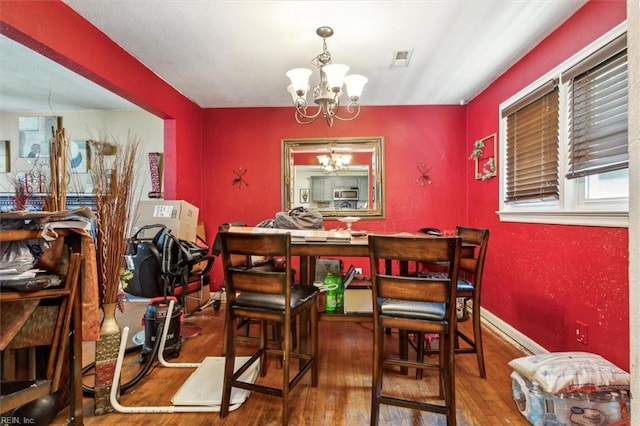
[[[130,335],[142,329],[141,318],[146,305],[128,303],[120,315],[122,327],[131,327]],[[188,317],[190,325],[202,327],[199,336],[186,339],[180,357],[171,362],[200,362],[206,356],[219,356],[222,348],[224,305],[219,312],[212,308]],[[470,321],[462,323],[470,326]],[[321,322],[320,333],[320,384],[311,387],[306,376],[293,391],[291,400],[291,425],[368,425],[371,407],[371,323]],[[458,425],[527,425],[528,422],[516,409],[511,399],[511,374],[507,362],[523,353],[497,334],[485,328],[485,358],[487,378],[481,379],[475,355],[456,356],[456,402]],[[397,351],[397,334],[393,334],[387,349]],[[250,349],[241,344],[239,354]],[[138,353],[125,359],[123,381],[129,380],[140,369]],[[93,344],[85,343],[85,364],[93,360]],[[135,387],[120,397],[124,406],[171,405],[171,397],[193,372],[193,369],[165,368],[155,362],[149,374]],[[415,371],[409,376],[389,371],[385,374],[385,388],[417,398],[437,397],[435,372],[427,371],[418,381]],[[267,381],[277,384],[280,376],[274,359],[269,361]],[[258,380],[265,380],[258,378]],[[92,378],[85,378],[91,383]],[[280,400],[252,394],[236,411],[225,419],[218,413],[164,413],[124,414],[114,412],[102,416],[93,415],[93,399],[84,399],[86,425],[277,425],[280,424]],[[444,425],[444,417],[438,414],[382,406],[381,421],[384,425]],[[61,413],[55,425],[66,424]]]

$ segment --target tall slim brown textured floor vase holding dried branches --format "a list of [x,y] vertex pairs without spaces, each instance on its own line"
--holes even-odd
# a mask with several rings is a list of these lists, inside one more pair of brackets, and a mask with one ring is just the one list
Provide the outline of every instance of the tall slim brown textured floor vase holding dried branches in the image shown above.
[[116,304],[102,305],[104,319],[100,327],[100,337],[96,342],[96,376],[94,394],[94,413],[106,414],[113,411],[110,401],[111,384],[116,369],[118,349],[120,348],[120,326],[116,321]]

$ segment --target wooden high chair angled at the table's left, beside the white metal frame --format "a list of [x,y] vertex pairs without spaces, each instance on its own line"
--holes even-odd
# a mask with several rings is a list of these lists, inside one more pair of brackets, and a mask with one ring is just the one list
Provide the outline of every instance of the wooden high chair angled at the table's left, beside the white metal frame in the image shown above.
[[[282,398],[282,424],[286,425],[289,418],[291,389],[307,372],[311,372],[311,385],[313,387],[318,385],[317,289],[313,286],[291,285],[291,235],[289,233],[222,232],[220,243],[227,293],[224,330],[225,372],[220,417],[225,417],[229,413],[231,388],[236,387]],[[250,256],[282,256],[285,259],[285,268],[284,270],[253,268],[249,260],[243,262],[242,266],[234,266],[233,259],[238,255],[245,256],[247,259]],[[302,319],[307,316],[309,325],[302,323]],[[299,345],[300,348],[295,352],[292,349],[291,324],[296,317],[301,318],[300,327],[305,327],[305,330],[306,327],[310,329],[308,352],[302,352],[305,345]],[[239,318],[259,321],[260,338],[258,350],[234,372],[238,340],[236,321]],[[281,346],[268,346],[266,338],[268,323],[278,323],[282,327]],[[268,353],[282,357],[282,387],[242,382],[240,376],[258,359],[261,376],[266,375]],[[293,378],[290,377],[292,357],[301,361]]]

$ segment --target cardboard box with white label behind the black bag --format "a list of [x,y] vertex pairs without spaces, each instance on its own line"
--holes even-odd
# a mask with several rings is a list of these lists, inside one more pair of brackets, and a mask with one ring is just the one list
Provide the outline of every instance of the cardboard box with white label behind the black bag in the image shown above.
[[[134,232],[145,225],[165,225],[181,240],[196,241],[199,209],[186,201],[140,201],[134,217]],[[152,235],[144,235],[152,237]]]

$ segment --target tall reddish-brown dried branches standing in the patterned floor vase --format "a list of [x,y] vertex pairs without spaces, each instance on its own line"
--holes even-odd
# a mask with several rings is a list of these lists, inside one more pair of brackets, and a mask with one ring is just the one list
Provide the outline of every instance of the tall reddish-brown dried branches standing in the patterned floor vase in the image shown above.
[[105,154],[102,142],[92,146],[96,153],[91,174],[96,194],[96,256],[102,303],[118,301],[140,139],[129,135],[126,144],[116,145],[114,156]]

